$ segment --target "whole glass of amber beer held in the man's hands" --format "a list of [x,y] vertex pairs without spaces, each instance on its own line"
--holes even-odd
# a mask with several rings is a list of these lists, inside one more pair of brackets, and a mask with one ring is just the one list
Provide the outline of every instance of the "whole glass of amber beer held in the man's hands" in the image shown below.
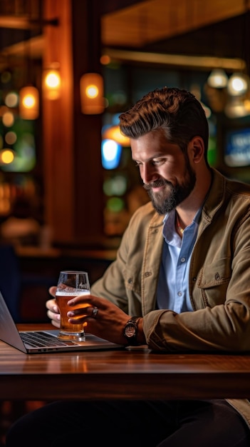
[[73,324],[68,322],[68,311],[76,308],[87,307],[88,304],[68,306],[68,301],[74,296],[90,294],[90,283],[86,271],[61,271],[56,289],[56,304],[61,314],[61,327],[58,338],[71,341],[85,341],[83,323]]

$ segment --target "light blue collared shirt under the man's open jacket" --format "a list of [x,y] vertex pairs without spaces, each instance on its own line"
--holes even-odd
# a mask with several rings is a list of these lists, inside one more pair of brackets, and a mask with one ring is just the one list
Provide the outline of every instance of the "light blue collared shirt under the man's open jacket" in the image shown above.
[[189,296],[189,266],[201,212],[202,208],[197,211],[192,224],[184,228],[182,238],[175,230],[175,210],[165,216],[162,230],[165,243],[157,287],[159,309],[177,313],[193,311]]

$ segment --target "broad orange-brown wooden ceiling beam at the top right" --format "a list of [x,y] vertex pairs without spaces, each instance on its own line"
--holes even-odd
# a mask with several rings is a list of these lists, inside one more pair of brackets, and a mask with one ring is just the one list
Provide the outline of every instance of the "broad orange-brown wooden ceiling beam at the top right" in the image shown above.
[[142,1],[103,15],[102,44],[140,49],[155,41],[239,16],[249,9],[249,0]]

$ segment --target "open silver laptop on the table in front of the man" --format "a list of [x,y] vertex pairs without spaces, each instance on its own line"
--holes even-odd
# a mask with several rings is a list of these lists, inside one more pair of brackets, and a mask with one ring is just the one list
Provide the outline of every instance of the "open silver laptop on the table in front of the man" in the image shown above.
[[64,341],[57,338],[58,330],[43,331],[18,331],[14,319],[11,316],[8,306],[0,291],[0,340],[14,346],[27,354],[62,352],[62,351],[96,351],[103,349],[121,349],[123,345],[112,343],[85,333],[86,340]]

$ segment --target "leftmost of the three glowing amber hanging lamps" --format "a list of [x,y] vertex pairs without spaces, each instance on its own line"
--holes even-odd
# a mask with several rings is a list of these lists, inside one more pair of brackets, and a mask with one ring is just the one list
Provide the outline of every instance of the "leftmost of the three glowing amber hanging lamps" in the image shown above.
[[39,94],[36,87],[26,86],[19,91],[19,114],[22,119],[38,118]]

